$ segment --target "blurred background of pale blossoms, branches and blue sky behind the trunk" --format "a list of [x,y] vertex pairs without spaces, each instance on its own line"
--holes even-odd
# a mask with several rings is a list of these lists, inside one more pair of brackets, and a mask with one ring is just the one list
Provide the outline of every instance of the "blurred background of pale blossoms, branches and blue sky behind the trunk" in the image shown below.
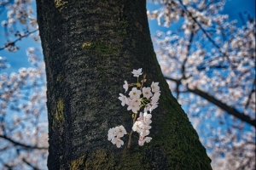
[[[255,1],[148,0],[155,53],[215,170],[255,169]],[[0,0],[0,169],[47,169],[33,0]]]

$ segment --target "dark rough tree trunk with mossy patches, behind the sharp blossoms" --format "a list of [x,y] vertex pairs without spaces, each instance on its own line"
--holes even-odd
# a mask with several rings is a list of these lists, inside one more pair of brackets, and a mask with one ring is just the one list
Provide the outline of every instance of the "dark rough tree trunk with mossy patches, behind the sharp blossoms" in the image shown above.
[[[145,0],[37,0],[37,8],[47,73],[49,169],[212,169],[160,71]],[[108,129],[131,129],[131,111],[118,97],[124,80],[136,81],[131,71],[138,68],[148,83],[160,82],[153,140],[139,147],[133,135],[130,150],[117,149]]]

